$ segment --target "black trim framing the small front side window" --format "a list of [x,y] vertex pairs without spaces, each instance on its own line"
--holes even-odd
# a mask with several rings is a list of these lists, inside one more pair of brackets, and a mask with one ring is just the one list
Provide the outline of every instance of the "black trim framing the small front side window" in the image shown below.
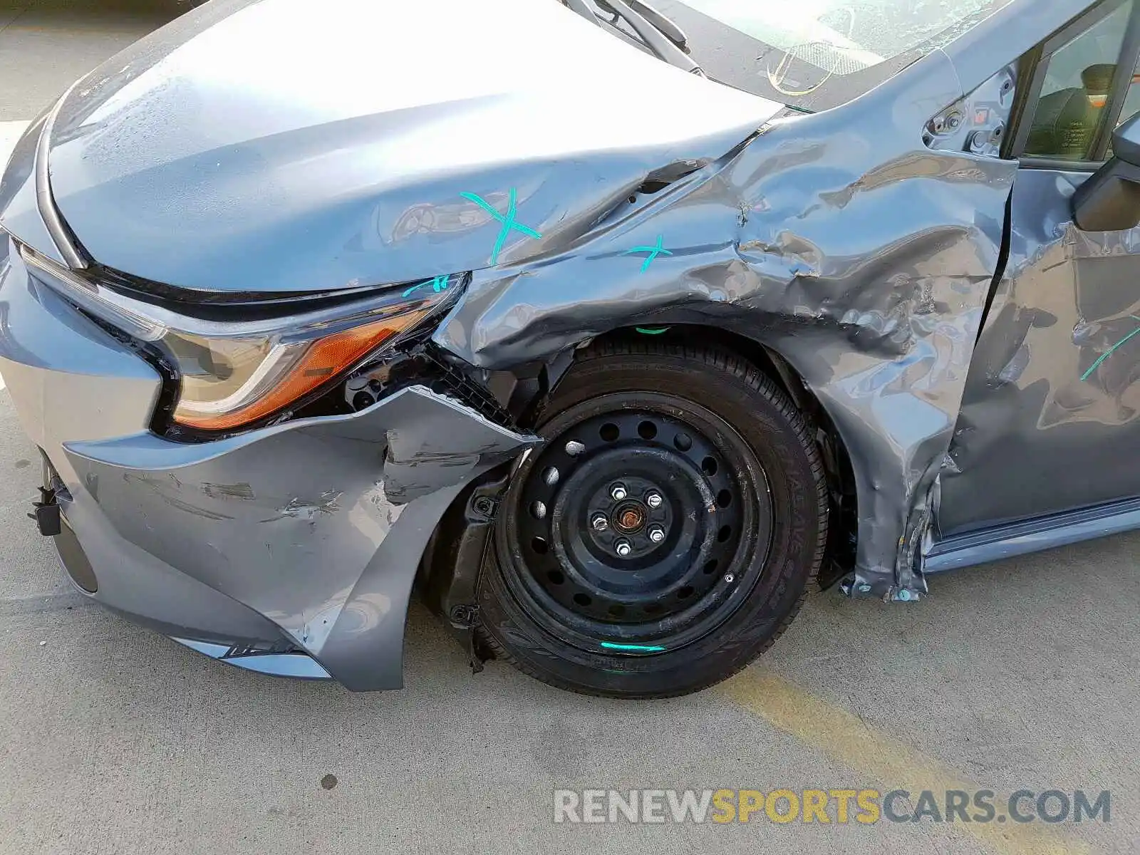
[[[1096,24],[1100,23],[1115,13],[1130,0],[1104,0],[1091,9],[1086,9],[1073,21],[1068,22],[1060,30],[1054,32],[1044,42],[1021,57],[1018,68],[1020,80],[1029,80],[1029,85],[1025,89],[1025,96],[1018,99],[1015,107],[1015,132],[1009,136],[1009,148],[1004,156],[1016,157],[1023,169],[1050,169],[1064,170],[1068,172],[1096,172],[1107,158],[1108,146],[1112,141],[1112,132],[1117,125],[1119,113],[1127,98],[1129,85],[1135,73],[1138,60],[1140,60],[1140,0],[1132,0],[1132,13],[1124,31],[1124,39],[1121,43],[1121,51],[1116,59],[1116,73],[1108,90],[1108,101],[1105,104],[1106,119],[1097,129],[1092,141],[1093,157],[1085,161],[1068,161],[1059,157],[1042,157],[1026,155],[1025,145],[1032,130],[1033,109],[1037,106],[1041,97],[1041,89],[1044,84],[1045,72],[1052,55],[1067,44],[1077,35],[1081,35]],[[1126,70],[1126,71],[1124,71]]]

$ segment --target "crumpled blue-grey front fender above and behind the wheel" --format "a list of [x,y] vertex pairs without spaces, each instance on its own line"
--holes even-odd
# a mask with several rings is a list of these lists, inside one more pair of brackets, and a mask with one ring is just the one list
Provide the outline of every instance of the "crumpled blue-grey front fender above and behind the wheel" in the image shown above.
[[850,453],[850,586],[912,598],[1016,169],[923,142],[961,98],[934,54],[846,107],[775,122],[656,196],[614,199],[588,235],[549,235],[540,260],[477,274],[435,341],[484,368],[644,324],[771,347]]

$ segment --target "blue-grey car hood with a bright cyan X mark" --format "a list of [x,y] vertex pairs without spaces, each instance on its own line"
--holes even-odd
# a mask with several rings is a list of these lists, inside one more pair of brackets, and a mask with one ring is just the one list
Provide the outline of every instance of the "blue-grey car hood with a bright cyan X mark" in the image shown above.
[[214,0],[66,96],[50,186],[107,267],[327,291],[554,252],[779,109],[556,0]]

